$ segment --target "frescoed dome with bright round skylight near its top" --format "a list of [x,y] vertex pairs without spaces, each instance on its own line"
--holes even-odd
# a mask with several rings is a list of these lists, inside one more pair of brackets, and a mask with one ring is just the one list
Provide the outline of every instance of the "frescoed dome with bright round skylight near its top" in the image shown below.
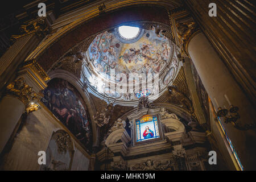
[[149,30],[117,27],[98,34],[90,44],[84,80],[93,94],[119,104],[133,105],[145,96],[154,100],[156,93],[159,96],[171,84],[179,69],[174,52],[172,42],[154,26]]

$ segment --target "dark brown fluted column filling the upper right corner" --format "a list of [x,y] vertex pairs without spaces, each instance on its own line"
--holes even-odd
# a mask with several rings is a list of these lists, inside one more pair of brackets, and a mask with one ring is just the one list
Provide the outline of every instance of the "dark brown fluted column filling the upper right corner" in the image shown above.
[[[232,76],[255,105],[255,3],[244,0],[184,2]],[[210,3],[216,4],[217,16],[209,16]]]

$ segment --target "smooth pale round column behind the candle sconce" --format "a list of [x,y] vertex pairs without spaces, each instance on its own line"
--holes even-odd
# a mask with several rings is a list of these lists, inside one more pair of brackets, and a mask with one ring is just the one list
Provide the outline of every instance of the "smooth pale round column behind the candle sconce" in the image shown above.
[[[238,113],[241,118],[237,122],[240,122],[241,125],[255,122],[253,105],[205,35],[200,31],[193,34],[186,47],[215,109],[218,107],[229,109],[230,104],[232,104],[239,107]],[[234,128],[231,123],[224,123],[224,127],[245,169],[256,169],[255,129],[241,131]]]

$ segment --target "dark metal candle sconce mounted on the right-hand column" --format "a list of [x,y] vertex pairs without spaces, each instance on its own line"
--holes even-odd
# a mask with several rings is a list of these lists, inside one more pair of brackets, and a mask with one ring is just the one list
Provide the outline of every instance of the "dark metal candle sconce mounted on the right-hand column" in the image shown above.
[[232,125],[238,130],[254,129],[256,127],[255,123],[245,124],[244,126],[242,126],[240,123],[237,123],[237,119],[240,118],[238,110],[239,108],[233,105],[230,105],[229,110],[219,107],[217,111],[217,116],[224,117],[225,123],[232,123]]

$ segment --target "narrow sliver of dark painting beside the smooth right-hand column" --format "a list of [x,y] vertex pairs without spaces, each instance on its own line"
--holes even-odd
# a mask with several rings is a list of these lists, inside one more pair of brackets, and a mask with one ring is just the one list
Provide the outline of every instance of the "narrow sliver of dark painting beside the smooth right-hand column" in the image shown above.
[[196,92],[197,95],[199,96],[200,104],[203,109],[203,113],[205,116],[205,119],[207,120],[207,123],[210,126],[210,109],[209,109],[209,101],[208,101],[208,93],[204,88],[204,85],[201,81],[201,78],[199,77],[195,65],[191,61],[191,71],[193,75],[193,80],[195,81],[196,84]]

